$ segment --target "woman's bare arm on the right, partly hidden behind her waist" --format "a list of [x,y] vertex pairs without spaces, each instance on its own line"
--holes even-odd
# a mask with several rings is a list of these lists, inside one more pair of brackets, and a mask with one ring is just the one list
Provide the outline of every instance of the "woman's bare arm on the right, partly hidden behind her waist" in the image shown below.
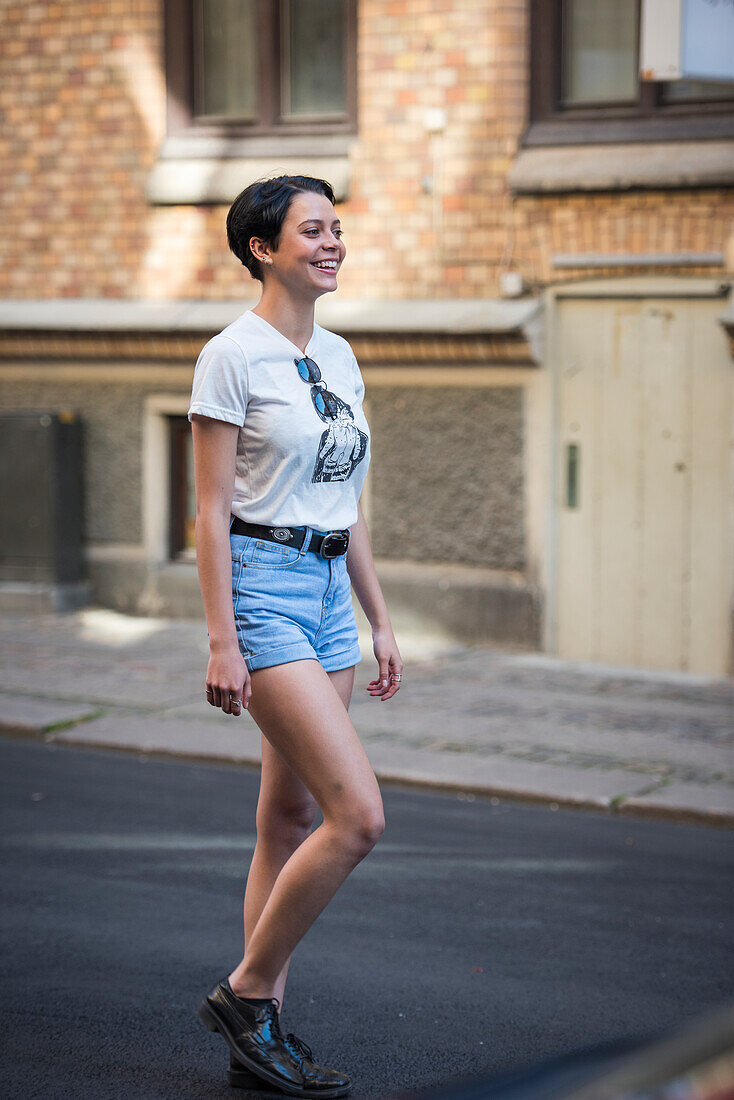
[[358,504],[357,507],[359,518],[350,527],[347,572],[372,627],[372,648],[380,666],[379,679],[368,684],[368,691],[371,695],[380,695],[384,702],[399,690],[401,681],[393,678],[402,676],[403,661],[374,568],[366,522],[361,506]]

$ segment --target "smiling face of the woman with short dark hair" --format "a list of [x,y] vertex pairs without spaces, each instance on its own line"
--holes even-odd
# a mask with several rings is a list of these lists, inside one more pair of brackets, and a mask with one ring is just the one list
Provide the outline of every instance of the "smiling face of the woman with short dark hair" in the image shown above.
[[265,277],[276,278],[299,297],[318,298],[337,289],[337,274],[347,254],[336,210],[326,195],[293,196]]

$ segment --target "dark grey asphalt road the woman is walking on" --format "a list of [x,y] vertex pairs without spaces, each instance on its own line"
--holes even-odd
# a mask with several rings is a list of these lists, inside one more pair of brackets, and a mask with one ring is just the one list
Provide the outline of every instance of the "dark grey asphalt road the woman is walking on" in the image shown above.
[[[239,958],[259,773],[0,739],[0,1094],[230,1100],[200,997]],[[732,834],[383,787],[387,827],[283,1010],[351,1097],[723,1004]]]

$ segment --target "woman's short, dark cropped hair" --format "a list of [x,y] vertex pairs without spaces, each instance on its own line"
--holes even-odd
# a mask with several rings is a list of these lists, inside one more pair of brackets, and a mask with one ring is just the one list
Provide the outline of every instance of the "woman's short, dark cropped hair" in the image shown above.
[[329,202],[336,202],[333,188],[326,179],[314,176],[275,176],[250,184],[229,208],[227,215],[227,240],[230,250],[244,264],[253,278],[262,283],[262,264],[250,248],[250,239],[259,237],[271,248],[277,248],[285,216],[299,191],[315,191],[325,195]]

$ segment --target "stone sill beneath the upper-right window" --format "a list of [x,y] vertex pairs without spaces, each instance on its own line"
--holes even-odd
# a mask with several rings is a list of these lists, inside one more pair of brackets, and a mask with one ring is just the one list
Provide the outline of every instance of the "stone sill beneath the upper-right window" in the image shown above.
[[536,145],[518,152],[507,183],[516,195],[726,187],[734,183],[734,142]]

